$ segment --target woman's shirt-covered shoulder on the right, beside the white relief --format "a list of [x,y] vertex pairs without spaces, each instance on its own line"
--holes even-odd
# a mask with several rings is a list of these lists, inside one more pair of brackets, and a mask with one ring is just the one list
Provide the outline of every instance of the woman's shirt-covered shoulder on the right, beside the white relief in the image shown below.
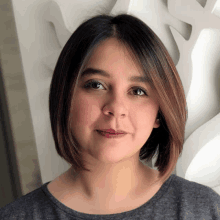
[[170,199],[178,203],[184,213],[194,213],[204,219],[220,219],[220,195],[212,188],[173,176],[169,187]]

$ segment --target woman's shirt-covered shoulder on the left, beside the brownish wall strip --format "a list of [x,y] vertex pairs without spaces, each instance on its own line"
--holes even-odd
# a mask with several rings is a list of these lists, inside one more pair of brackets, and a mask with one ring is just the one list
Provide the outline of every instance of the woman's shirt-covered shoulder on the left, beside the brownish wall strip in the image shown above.
[[0,219],[32,219],[47,203],[42,186],[0,208]]

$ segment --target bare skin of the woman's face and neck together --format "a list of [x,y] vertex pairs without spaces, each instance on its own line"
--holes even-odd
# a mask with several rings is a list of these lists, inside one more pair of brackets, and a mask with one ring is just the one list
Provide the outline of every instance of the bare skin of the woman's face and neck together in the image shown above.
[[[83,149],[83,159],[91,172],[77,176],[70,168],[66,173],[69,192],[77,191],[84,200],[99,209],[110,209],[134,200],[155,180],[158,171],[139,160],[139,152],[153,129],[159,103],[147,83],[130,82],[130,76],[141,76],[141,68],[131,53],[116,39],[102,42],[93,52],[87,67],[105,70],[111,77],[91,75],[80,79],[72,100],[72,130]],[[88,80],[97,80],[85,89]],[[142,87],[142,90],[134,87]],[[127,131],[120,139],[109,139],[97,129]],[[68,180],[67,180],[68,179]]]

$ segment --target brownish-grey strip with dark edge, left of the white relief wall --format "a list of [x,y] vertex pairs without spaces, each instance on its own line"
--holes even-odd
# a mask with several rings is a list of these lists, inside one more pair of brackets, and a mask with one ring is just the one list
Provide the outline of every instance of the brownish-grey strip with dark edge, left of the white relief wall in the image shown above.
[[0,207],[42,184],[11,1],[0,1]]

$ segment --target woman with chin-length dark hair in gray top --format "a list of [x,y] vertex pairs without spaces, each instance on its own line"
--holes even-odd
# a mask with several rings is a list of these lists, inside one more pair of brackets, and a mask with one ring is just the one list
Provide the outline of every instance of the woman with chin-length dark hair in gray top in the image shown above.
[[[171,175],[187,106],[175,65],[138,18],[82,23],[54,70],[50,119],[71,168],[6,205],[1,219],[220,219],[220,196]],[[151,169],[144,162],[157,154]]]

